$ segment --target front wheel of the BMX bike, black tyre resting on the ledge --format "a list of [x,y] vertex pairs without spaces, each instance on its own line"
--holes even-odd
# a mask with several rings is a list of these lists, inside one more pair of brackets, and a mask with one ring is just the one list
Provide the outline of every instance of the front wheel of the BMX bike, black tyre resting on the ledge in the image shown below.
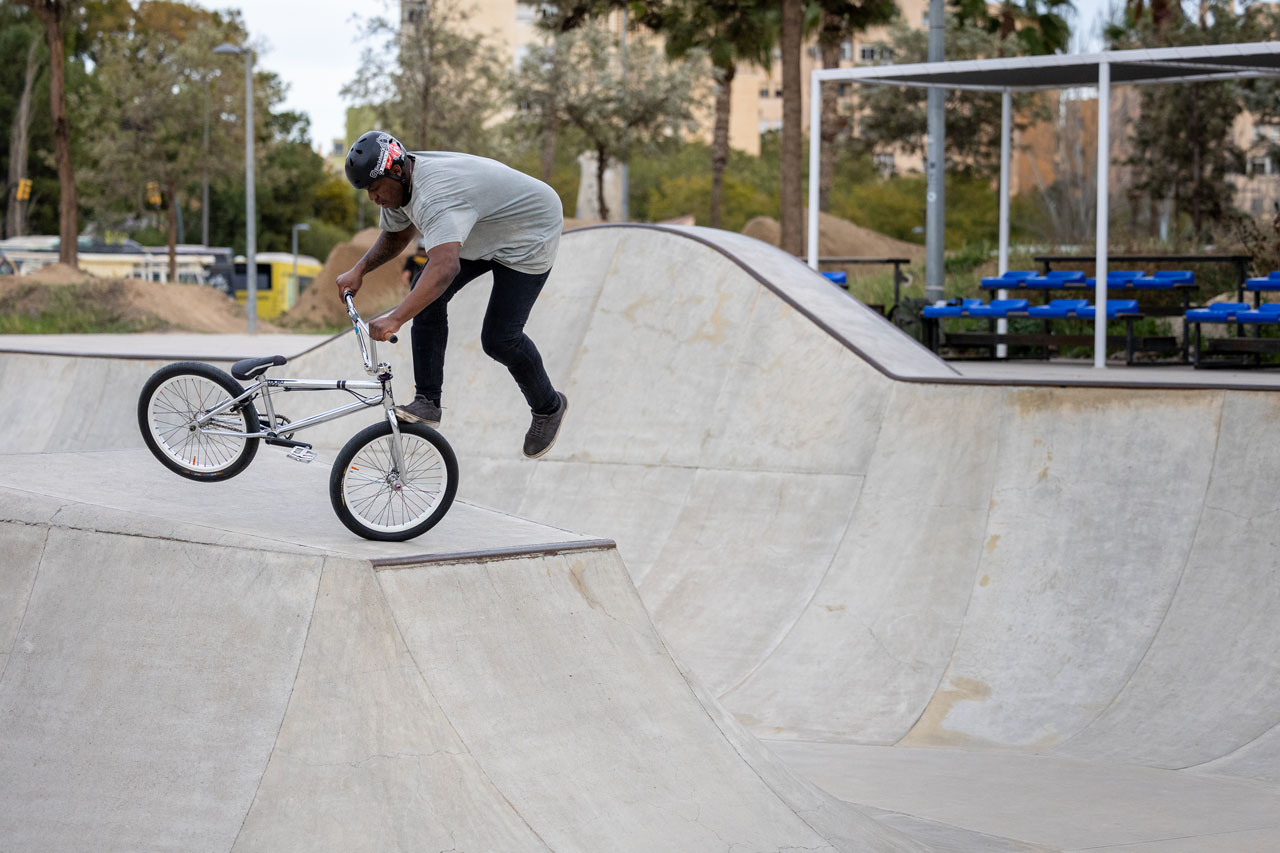
[[356,433],[329,475],[338,519],[366,539],[403,542],[434,528],[458,491],[458,461],[444,437],[425,424],[401,424],[404,470],[392,453],[387,421]]

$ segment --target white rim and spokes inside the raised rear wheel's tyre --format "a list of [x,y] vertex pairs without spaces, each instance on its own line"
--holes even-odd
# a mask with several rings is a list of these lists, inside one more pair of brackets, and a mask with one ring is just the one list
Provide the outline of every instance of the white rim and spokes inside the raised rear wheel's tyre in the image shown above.
[[[210,435],[191,423],[210,409],[232,400],[216,382],[191,374],[166,379],[147,403],[147,426],[156,444],[168,456],[193,471],[221,471],[236,464],[244,452],[244,438]],[[224,412],[206,428],[244,432],[244,416]]]

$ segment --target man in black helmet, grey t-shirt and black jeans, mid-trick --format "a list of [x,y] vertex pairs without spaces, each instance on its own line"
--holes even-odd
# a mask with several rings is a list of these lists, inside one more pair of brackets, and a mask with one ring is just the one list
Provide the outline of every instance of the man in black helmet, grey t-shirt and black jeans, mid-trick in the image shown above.
[[412,320],[416,396],[396,414],[430,426],[440,423],[447,306],[462,287],[493,273],[480,342],[506,365],[532,411],[525,456],[552,448],[568,400],[552,387],[525,321],[543,289],[564,225],[559,196],[541,181],[497,160],[449,151],[406,151],[389,133],[369,131],[347,154],[347,179],[381,207],[383,233],[356,265],[338,277],[356,292],[364,277],[422,234],[426,268],[390,314],[369,324],[376,341]]

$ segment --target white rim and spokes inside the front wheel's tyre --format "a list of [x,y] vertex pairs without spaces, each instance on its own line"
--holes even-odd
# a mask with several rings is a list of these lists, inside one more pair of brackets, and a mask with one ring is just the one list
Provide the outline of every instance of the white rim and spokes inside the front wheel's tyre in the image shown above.
[[406,474],[393,485],[392,438],[376,438],[356,453],[342,474],[342,500],[362,525],[379,533],[415,528],[440,506],[449,485],[444,457],[435,444],[401,433]]

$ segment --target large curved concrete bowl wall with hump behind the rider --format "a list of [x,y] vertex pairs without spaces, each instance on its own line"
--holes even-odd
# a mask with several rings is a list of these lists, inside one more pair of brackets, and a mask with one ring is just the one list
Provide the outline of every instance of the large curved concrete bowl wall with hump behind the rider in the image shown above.
[[609,530],[758,734],[1271,777],[1228,757],[1280,722],[1280,397],[965,383],[762,243],[600,228],[534,316],[576,407],[530,467],[484,296],[454,300],[445,388],[471,488]]

